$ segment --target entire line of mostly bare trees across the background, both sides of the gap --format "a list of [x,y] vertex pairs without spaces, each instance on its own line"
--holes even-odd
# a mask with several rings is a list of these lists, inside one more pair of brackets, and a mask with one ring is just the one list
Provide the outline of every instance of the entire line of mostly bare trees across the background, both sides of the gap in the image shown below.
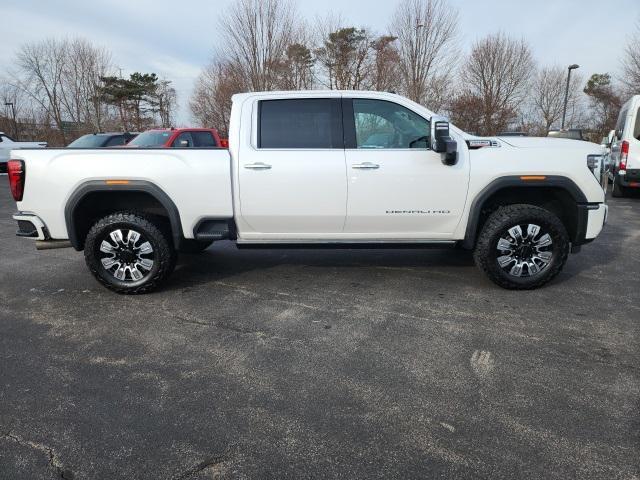
[[[293,0],[237,0],[219,15],[216,54],[189,100],[197,124],[229,128],[231,96],[245,91],[395,91],[468,132],[546,135],[562,118],[567,66],[536,61],[525,39],[496,32],[465,51],[448,0],[398,0],[383,33],[336,16],[313,23]],[[566,126],[598,140],[621,103],[640,93],[640,22],[620,51],[621,76],[574,70]],[[154,73],[124,78],[111,53],[84,39],[23,45],[0,79],[0,130],[65,145],[81,134],[171,126],[177,98]],[[15,114],[16,122],[13,121]]]

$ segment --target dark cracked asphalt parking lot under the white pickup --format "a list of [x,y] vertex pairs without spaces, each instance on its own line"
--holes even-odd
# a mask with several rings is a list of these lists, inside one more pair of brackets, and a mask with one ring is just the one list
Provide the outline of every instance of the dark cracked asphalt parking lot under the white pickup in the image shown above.
[[183,256],[157,293],[14,236],[0,478],[640,478],[640,198],[549,286],[451,250]]

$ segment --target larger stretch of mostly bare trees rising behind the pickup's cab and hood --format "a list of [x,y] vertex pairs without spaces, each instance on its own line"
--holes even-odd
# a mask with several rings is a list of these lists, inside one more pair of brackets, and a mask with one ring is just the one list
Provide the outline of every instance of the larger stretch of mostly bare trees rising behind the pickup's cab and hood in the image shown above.
[[[459,13],[447,0],[399,0],[383,34],[332,16],[310,24],[288,0],[238,0],[219,18],[222,41],[190,107],[222,132],[233,93],[316,88],[395,91],[480,135],[560,127],[567,66],[538,63],[526,40],[500,32],[461,51]],[[640,23],[621,63],[617,81],[573,71],[566,126],[599,140],[623,99],[640,92]]]

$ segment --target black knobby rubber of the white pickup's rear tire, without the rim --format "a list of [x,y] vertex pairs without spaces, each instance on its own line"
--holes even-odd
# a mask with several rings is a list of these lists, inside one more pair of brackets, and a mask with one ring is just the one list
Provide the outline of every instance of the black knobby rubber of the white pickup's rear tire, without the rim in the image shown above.
[[[100,260],[100,245],[110,232],[117,229],[135,229],[144,235],[153,247],[153,267],[139,281],[122,281],[110,274]],[[96,279],[109,290],[123,294],[140,294],[155,290],[173,272],[177,253],[168,229],[144,215],[116,212],[98,220],[89,230],[84,244],[84,258]]]

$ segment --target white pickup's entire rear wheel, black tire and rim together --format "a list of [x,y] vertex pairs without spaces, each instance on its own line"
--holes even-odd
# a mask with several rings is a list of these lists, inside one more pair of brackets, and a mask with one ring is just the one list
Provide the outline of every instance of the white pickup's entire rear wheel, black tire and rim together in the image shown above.
[[173,271],[176,252],[168,233],[144,216],[118,212],[89,230],[84,258],[91,273],[118,293],[146,293]]

